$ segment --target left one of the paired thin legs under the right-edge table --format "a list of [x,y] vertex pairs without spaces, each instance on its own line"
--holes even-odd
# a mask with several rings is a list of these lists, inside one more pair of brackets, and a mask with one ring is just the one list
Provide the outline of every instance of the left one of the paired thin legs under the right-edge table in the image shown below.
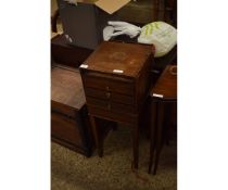
[[151,167],[153,165],[153,154],[155,149],[155,129],[156,129],[156,106],[155,101],[151,101],[151,123],[150,123],[150,160],[148,173],[151,173]]

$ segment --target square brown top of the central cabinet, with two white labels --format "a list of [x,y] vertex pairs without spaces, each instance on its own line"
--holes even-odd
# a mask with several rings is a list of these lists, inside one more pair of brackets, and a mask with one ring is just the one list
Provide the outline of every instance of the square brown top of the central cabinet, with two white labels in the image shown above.
[[150,58],[153,58],[152,46],[106,41],[96,49],[80,68],[137,77]]

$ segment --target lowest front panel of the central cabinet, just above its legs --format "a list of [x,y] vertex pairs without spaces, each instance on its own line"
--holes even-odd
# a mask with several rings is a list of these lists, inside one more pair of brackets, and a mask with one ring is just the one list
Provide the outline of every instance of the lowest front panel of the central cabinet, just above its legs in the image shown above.
[[100,109],[97,106],[88,106],[89,113],[98,116],[105,118],[107,121],[115,121],[119,123],[126,123],[126,124],[136,124],[137,123],[137,115],[134,114],[123,114],[123,113],[117,113],[117,112],[112,112],[112,111],[106,111],[104,109]]

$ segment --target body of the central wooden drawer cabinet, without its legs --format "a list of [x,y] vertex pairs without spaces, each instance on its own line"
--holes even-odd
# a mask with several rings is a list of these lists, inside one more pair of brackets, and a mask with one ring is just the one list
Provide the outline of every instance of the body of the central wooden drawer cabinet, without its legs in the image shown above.
[[103,42],[80,65],[89,113],[135,123],[149,93],[152,48]]

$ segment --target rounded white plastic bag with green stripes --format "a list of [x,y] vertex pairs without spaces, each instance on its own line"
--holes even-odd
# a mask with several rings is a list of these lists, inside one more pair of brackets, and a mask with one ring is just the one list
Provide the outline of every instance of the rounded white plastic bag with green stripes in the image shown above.
[[154,45],[154,56],[167,54],[177,43],[177,29],[165,22],[153,22],[142,27],[138,42]]

